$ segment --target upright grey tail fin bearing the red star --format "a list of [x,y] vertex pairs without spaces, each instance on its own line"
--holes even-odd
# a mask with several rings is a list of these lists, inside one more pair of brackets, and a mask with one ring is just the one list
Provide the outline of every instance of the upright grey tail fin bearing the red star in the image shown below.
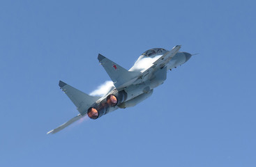
[[133,84],[140,74],[140,72],[130,72],[124,69],[101,54],[98,54],[98,61],[103,65],[117,90],[121,90],[122,88]]

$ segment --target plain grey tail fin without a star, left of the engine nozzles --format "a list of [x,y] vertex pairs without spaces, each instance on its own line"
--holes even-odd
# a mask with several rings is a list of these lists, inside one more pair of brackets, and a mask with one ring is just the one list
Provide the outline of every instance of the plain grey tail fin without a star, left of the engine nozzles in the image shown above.
[[63,92],[66,93],[75,106],[77,106],[77,110],[82,114],[82,116],[86,114],[87,110],[94,102],[100,99],[100,97],[87,95],[63,81],[59,81],[59,87],[61,87]]

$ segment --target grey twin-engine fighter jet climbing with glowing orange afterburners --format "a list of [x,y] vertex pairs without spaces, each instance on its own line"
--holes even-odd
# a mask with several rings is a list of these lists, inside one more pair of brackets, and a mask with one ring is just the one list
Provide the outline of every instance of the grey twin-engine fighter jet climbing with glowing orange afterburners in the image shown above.
[[98,61],[112,79],[114,86],[103,97],[97,97],[59,81],[60,88],[75,104],[80,114],[47,134],[57,133],[84,116],[96,120],[116,109],[125,109],[146,100],[152,95],[154,88],[163,84],[167,70],[186,63],[192,56],[187,52],[180,52],[179,49],[181,45],[176,45],[170,51],[163,48],[149,49],[137,59],[130,70],[98,54]]

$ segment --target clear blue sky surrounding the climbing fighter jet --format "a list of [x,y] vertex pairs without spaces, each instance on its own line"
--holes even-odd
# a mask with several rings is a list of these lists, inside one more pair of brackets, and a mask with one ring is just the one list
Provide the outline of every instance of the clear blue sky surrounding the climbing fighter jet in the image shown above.
[[[255,1],[0,1],[0,166],[256,166]],[[61,132],[153,47],[199,53],[149,99]]]

